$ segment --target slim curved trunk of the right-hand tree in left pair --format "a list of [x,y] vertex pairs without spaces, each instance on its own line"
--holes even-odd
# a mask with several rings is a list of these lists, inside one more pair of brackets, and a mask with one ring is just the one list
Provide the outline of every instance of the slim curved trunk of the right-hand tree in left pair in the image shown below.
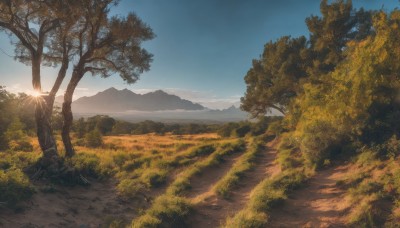
[[70,136],[71,127],[73,123],[71,104],[75,88],[78,85],[81,78],[82,77],[78,77],[77,73],[73,73],[71,81],[68,84],[67,90],[65,91],[64,103],[62,106],[62,115],[64,117],[64,123],[61,136],[65,147],[65,155],[67,157],[72,157],[75,155],[75,149],[72,146],[71,136]]

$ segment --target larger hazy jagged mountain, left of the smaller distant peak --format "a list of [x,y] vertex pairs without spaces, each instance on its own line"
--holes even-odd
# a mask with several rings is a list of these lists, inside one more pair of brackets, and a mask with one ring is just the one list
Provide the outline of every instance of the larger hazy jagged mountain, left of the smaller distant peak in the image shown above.
[[204,109],[200,104],[181,99],[162,90],[141,95],[128,89],[117,90],[113,87],[91,97],[81,97],[72,103],[72,110],[75,113]]

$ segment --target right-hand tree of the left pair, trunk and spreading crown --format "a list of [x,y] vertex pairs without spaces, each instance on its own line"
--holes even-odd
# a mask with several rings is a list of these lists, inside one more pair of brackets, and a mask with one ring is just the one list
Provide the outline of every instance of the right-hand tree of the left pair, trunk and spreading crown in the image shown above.
[[75,154],[70,138],[73,123],[71,103],[80,80],[87,73],[104,78],[117,73],[131,84],[150,67],[152,55],[140,45],[154,37],[152,30],[133,13],[125,18],[109,18],[110,7],[117,3],[116,0],[78,2],[81,15],[75,29],[76,36],[71,42],[76,50],[74,69],[62,106],[62,139],[69,157]]

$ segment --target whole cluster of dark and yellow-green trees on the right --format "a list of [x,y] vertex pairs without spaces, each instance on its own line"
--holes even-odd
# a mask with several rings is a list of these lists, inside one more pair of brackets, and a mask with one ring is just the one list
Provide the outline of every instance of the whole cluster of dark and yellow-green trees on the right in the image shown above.
[[265,44],[241,99],[253,116],[282,112],[286,141],[311,165],[400,134],[400,11],[343,0],[323,0],[320,11],[305,20],[308,37]]

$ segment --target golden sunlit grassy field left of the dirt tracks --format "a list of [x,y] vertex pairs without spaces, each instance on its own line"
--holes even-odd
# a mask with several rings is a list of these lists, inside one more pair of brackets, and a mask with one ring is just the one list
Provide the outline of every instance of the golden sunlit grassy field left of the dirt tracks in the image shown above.
[[[60,139],[58,141],[62,151]],[[20,202],[35,192],[52,188],[49,183],[46,186],[32,183],[22,171],[40,157],[35,139],[32,139],[32,144],[34,152],[0,153],[0,190],[3,193],[0,203],[9,208],[20,207]],[[221,138],[217,134],[105,136],[101,147],[76,146],[77,155],[65,162],[93,182],[112,180],[115,186],[111,190],[118,199],[136,207],[132,218],[124,218],[118,224],[127,225],[139,216],[133,223],[137,226],[136,221],[140,223],[142,218],[158,213],[144,222],[154,223],[153,220],[158,219],[156,223],[161,225],[169,220],[160,213],[167,213],[171,206],[175,205],[175,210],[179,210],[175,216],[170,215],[172,220],[183,219],[180,213],[184,208],[190,211],[191,204],[183,194],[190,190],[193,176],[207,167],[218,166],[229,156],[244,153],[246,145],[246,140]],[[160,204],[167,208],[154,209]],[[108,223],[116,224],[116,221]]]

